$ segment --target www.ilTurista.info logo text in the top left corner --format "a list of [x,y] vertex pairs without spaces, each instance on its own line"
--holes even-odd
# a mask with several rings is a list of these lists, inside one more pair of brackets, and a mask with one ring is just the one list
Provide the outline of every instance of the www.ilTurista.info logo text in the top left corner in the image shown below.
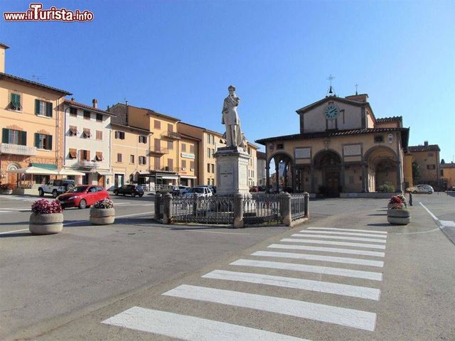
[[25,12],[4,12],[5,21],[92,21],[93,13],[76,9],[57,9],[52,6],[50,9],[43,9],[43,4],[32,3],[30,9]]

